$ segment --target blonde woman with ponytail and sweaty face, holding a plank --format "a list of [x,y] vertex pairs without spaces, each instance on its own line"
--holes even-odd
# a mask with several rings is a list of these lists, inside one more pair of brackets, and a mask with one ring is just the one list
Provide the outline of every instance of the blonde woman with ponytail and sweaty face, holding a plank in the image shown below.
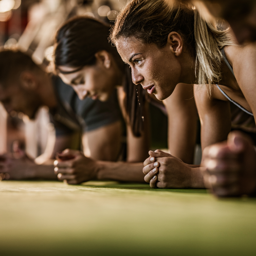
[[[194,86],[194,94],[202,149],[227,138],[231,103],[255,128],[255,45],[236,46],[228,31],[205,22],[193,6],[132,0],[119,14],[111,40],[131,67],[133,82],[159,100],[179,83],[200,85]],[[161,150],[150,152],[145,165],[145,180],[152,187],[204,187],[201,168]]]

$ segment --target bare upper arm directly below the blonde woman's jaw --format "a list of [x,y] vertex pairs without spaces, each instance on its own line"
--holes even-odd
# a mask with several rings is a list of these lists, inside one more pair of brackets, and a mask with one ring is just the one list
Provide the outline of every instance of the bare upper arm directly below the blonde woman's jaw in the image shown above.
[[169,151],[183,162],[192,164],[198,120],[193,86],[178,84],[164,104],[168,115]]

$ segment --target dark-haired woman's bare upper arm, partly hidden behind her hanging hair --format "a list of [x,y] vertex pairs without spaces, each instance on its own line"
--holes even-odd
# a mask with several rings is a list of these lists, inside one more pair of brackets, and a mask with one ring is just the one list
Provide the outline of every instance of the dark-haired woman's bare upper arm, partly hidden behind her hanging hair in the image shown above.
[[148,117],[148,109],[147,105],[145,106],[145,114],[144,114],[144,130],[140,137],[134,136],[132,133],[132,129],[129,123],[128,113],[125,109],[125,92],[123,88],[119,88],[118,90],[118,99],[119,105],[122,110],[122,114],[124,120],[126,122],[127,127],[127,161],[128,162],[144,162],[148,157],[149,150],[149,117]]

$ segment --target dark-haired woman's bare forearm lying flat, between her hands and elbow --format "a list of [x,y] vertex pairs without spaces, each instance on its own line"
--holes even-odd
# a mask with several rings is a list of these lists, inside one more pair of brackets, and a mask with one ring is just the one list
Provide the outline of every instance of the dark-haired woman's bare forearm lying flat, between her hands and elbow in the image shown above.
[[115,180],[121,182],[145,183],[143,163],[98,161],[97,180]]

